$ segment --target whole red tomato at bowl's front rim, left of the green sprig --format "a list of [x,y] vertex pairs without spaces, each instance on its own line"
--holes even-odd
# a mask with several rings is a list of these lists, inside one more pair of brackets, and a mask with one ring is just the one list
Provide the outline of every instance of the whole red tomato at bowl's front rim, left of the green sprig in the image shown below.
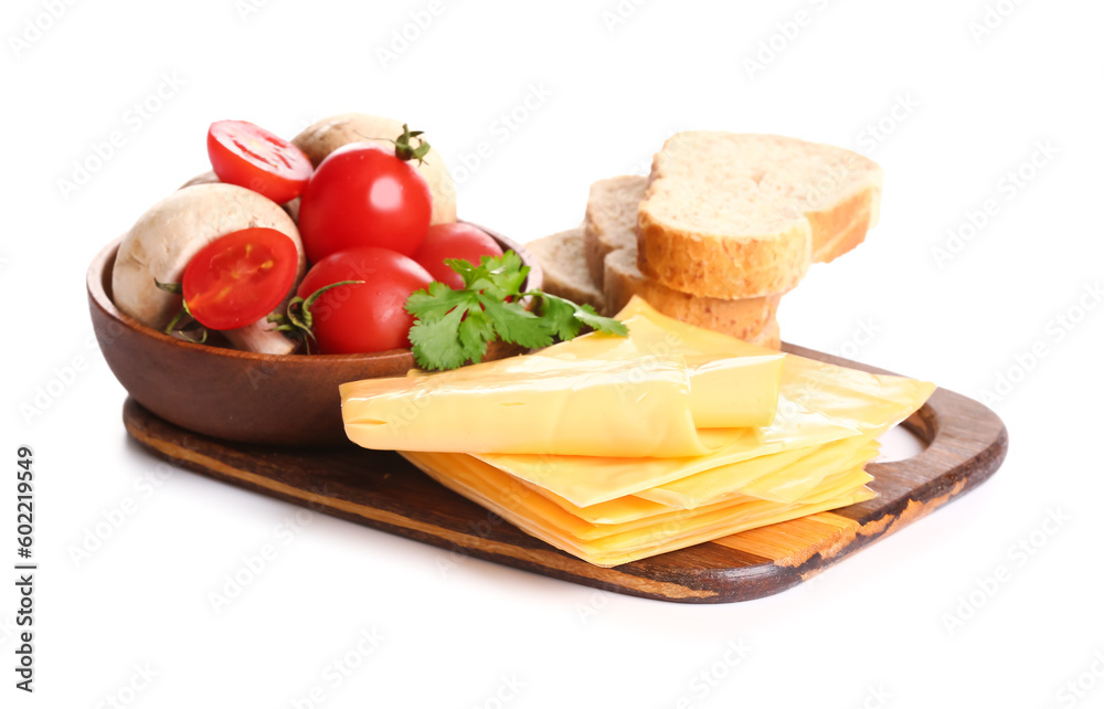
[[337,286],[315,300],[310,311],[319,351],[382,352],[411,346],[414,316],[404,306],[412,293],[433,281],[425,268],[390,248],[350,248],[316,263],[299,284],[298,295],[307,298],[341,281],[364,283]]

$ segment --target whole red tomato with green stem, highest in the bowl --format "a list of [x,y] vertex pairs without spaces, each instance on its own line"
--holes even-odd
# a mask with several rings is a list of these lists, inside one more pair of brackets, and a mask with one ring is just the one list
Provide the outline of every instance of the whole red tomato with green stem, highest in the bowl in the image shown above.
[[410,256],[429,229],[432,202],[425,178],[393,149],[343,146],[319,163],[302,191],[299,234],[307,258],[317,263],[357,246]]

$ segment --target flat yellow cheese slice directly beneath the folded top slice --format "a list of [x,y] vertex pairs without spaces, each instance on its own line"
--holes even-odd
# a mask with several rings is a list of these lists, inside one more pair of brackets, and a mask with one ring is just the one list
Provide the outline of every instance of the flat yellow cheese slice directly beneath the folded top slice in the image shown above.
[[[688,364],[723,357],[755,356],[763,348],[686,325],[634,298],[618,318],[629,338],[586,335],[544,350],[549,357],[625,360],[681,354]],[[934,384],[905,377],[871,374],[789,354],[785,358],[774,422],[761,430],[701,432],[710,448],[681,458],[477,454],[510,475],[543,487],[578,507],[590,507],[665,486],[691,475],[798,448],[862,436],[872,438],[907,417]],[[811,451],[808,451],[811,453]]]

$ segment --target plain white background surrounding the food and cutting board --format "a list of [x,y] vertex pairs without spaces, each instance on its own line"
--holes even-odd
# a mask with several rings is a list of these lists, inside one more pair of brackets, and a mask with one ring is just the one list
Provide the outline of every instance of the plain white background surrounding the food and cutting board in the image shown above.
[[[983,33],[987,3],[1004,14]],[[1100,3],[444,0],[385,61],[379,50],[426,0],[55,4],[51,20],[50,2],[9,0],[0,20],[0,459],[13,468],[17,446],[34,447],[41,563],[33,696],[12,688],[13,572],[0,579],[3,706],[307,707],[294,700],[314,687],[314,706],[333,709],[1104,701]],[[159,87],[168,97],[150,99]],[[503,131],[499,117],[533,87],[546,98]],[[136,115],[147,99],[158,109]],[[718,606],[455,563],[323,516],[288,535],[297,508],[187,472],[150,491],[157,462],[128,442],[125,393],[87,345],[88,262],[206,169],[212,120],[290,137],[346,110],[426,129],[454,169],[489,141],[459,213],[520,240],[575,225],[593,180],[645,171],[679,129],[872,157],[881,224],[785,298],[783,336],[975,398],[1013,379],[994,400],[1008,461],[815,581]],[[116,130],[123,146],[89,163]],[[75,163],[95,169],[64,190]],[[1016,171],[1031,179],[1015,187]],[[996,215],[970,232],[990,199]],[[948,230],[973,237],[948,244]],[[1038,343],[1045,356],[1028,362]],[[74,381],[28,409],[77,358]],[[2,480],[0,557],[14,561],[14,475]],[[72,548],[127,498],[137,511],[76,563]],[[264,544],[277,558],[215,613],[209,593]],[[359,653],[373,631],[382,639]],[[747,648],[739,663],[730,643]],[[357,669],[335,674],[347,656]]]

